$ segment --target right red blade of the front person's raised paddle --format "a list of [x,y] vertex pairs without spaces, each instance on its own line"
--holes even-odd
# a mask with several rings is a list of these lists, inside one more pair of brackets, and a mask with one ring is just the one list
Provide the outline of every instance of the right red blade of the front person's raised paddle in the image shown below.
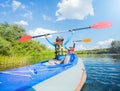
[[100,28],[108,28],[108,27],[111,27],[111,26],[112,26],[111,22],[104,21],[104,22],[95,23],[94,25],[91,26],[91,28],[100,29]]

